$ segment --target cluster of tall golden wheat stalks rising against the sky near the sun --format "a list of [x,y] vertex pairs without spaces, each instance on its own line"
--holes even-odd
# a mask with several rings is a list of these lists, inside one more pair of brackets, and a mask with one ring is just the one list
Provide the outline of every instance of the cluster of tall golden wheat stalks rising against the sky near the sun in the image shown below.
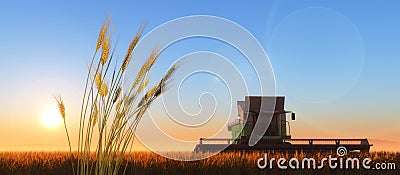
[[[77,174],[119,174],[122,157],[128,148],[129,150],[132,148],[139,120],[155,99],[165,92],[177,67],[173,66],[159,83],[153,85],[142,95],[144,89],[149,86],[148,72],[157,61],[161,51],[154,49],[140,68],[131,87],[128,87],[127,91],[122,90],[122,77],[131,61],[133,50],[143,35],[144,25],[139,28],[130,42],[120,67],[117,69],[118,63],[113,63],[115,67],[111,73],[109,67],[113,60],[114,50],[112,52],[110,50],[112,35],[109,34],[109,26],[110,20],[106,18],[101,27],[86,78],[79,120]],[[101,54],[96,57],[100,48]],[[65,106],[60,97],[56,97],[56,100],[61,116],[64,118],[72,154],[65,124]],[[129,122],[131,120],[133,121]],[[95,125],[98,130],[93,129]],[[95,132],[98,132],[98,138],[92,140]],[[89,156],[92,141],[96,145],[95,165],[90,163]]]

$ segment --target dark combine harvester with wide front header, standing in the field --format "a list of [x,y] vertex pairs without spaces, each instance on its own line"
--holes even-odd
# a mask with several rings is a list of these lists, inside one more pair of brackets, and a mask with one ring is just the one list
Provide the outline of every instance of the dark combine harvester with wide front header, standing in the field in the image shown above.
[[[260,109],[263,103],[275,103],[273,110]],[[271,105],[273,106],[273,105]],[[246,96],[245,101],[238,101],[239,119],[228,124],[232,138],[200,138],[195,152],[214,151],[336,151],[344,146],[348,151],[368,152],[372,144],[368,139],[292,139],[290,124],[287,121],[289,115],[295,120],[296,115],[292,111],[286,111],[285,97],[283,96]],[[260,115],[261,114],[261,115]],[[249,146],[249,139],[259,117],[272,117],[271,123],[255,145]]]

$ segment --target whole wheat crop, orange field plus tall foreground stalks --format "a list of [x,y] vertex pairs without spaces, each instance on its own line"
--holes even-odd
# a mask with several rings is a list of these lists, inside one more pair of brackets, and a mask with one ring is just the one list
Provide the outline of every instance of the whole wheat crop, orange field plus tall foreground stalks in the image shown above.
[[[61,95],[55,95],[56,104],[64,122],[69,152],[1,152],[2,174],[400,174],[399,167],[390,171],[368,170],[280,170],[259,169],[257,162],[262,152],[220,153],[198,161],[177,161],[151,152],[131,152],[136,127],[150,106],[171,86],[173,75],[182,63],[172,65],[155,83],[149,84],[150,73],[161,49],[154,48],[142,64],[132,82],[125,83],[124,75],[131,61],[133,50],[143,35],[141,26],[131,39],[122,58],[115,53],[113,30],[107,17],[100,29],[98,41],[85,76],[81,101],[77,148],[71,146],[66,120],[70,105],[64,104]],[[125,88],[124,88],[125,87]],[[78,124],[78,123],[77,123]],[[98,137],[93,137],[94,135]],[[72,137],[74,138],[74,137]],[[92,149],[92,146],[95,148]],[[72,150],[76,150],[73,152]],[[171,153],[191,156],[192,153]],[[181,155],[182,154],[182,155]],[[327,153],[268,153],[279,158],[320,158]],[[332,153],[331,153],[332,154]],[[336,154],[333,154],[336,155]],[[193,155],[192,155],[193,156]],[[349,156],[371,158],[373,162],[400,163],[400,153],[372,152]]]

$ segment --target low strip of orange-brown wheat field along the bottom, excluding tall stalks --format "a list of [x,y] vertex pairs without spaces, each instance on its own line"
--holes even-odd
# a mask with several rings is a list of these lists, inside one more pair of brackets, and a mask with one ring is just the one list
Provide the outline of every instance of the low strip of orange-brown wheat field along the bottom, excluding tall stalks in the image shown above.
[[[174,153],[179,154],[179,153]],[[287,159],[303,157],[321,158],[328,153],[269,153],[271,157]],[[72,174],[69,152],[1,152],[0,174]],[[219,153],[210,158],[198,161],[176,161],[151,152],[134,152],[125,154],[122,164],[126,165],[126,174],[399,174],[400,152],[371,152],[351,155],[352,157],[369,157],[373,162],[393,162],[396,170],[340,170],[324,167],[320,170],[280,170],[259,169],[257,160],[264,153]],[[95,154],[90,164],[95,165]],[[76,159],[75,159],[76,160]],[[373,164],[372,164],[373,165]],[[123,170],[118,174],[122,174]]]

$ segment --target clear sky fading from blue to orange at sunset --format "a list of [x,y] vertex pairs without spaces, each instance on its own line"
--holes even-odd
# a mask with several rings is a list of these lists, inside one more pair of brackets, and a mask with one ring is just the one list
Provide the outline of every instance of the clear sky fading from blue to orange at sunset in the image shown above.
[[[251,32],[268,54],[277,94],[286,96],[286,108],[298,116],[291,124],[294,138],[354,137],[400,142],[400,112],[396,111],[400,107],[399,5],[394,0],[3,2],[0,149],[67,148],[62,125],[45,127],[41,118],[45,111],[56,108],[52,95],[61,94],[74,135],[86,65],[107,14],[118,38],[117,56],[123,56],[141,22],[148,23],[149,32],[187,15],[214,15],[234,21]],[[227,57],[251,84],[249,92],[257,94],[251,88],[255,74],[244,58],[225,43],[205,38],[188,39],[166,49],[152,76],[157,80],[171,63],[199,50]],[[182,72],[204,62],[191,59]],[[208,59],[212,62],[212,57]],[[225,63],[215,62],[210,69],[218,69],[219,64]],[[214,92],[219,100],[217,115],[224,117],[231,112],[229,117],[234,118],[236,107],[230,109],[230,104],[243,100],[246,94],[236,93],[231,100],[224,87],[215,76],[194,75],[182,84],[180,100],[185,110],[196,113],[200,110],[199,95]],[[200,99],[201,104],[209,104],[208,100],[212,102],[206,96]],[[203,107],[205,113],[212,108]],[[160,111],[159,104],[151,108],[151,113]],[[190,139],[200,135],[191,135]]]

